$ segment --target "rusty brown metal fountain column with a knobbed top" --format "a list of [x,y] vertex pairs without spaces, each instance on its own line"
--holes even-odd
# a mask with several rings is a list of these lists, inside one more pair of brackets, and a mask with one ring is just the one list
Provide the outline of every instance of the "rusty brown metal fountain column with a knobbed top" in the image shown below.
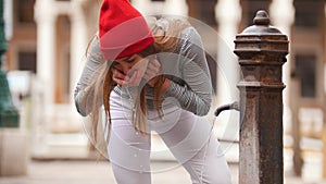
[[281,66],[288,53],[288,38],[269,26],[265,11],[254,25],[237,35],[235,53],[243,79],[240,90],[241,184],[283,184],[283,89]]

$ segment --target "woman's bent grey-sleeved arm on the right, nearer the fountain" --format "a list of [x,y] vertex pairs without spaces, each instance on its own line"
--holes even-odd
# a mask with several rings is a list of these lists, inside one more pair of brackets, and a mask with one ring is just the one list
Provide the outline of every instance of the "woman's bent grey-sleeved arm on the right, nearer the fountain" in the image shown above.
[[201,38],[193,27],[181,35],[181,86],[170,81],[165,97],[176,98],[181,108],[198,115],[205,115],[212,102],[212,84]]

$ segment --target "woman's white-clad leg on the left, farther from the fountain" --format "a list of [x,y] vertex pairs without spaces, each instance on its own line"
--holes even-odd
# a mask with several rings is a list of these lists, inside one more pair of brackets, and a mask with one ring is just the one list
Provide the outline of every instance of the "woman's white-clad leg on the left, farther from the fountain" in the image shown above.
[[135,132],[128,106],[127,99],[111,94],[109,158],[118,184],[150,184],[150,136]]

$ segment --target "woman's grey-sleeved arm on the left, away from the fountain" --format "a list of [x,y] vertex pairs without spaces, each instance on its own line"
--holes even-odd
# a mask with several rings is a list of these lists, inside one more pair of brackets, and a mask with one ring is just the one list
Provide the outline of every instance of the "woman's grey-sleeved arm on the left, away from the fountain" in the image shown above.
[[[95,89],[91,84],[95,77],[99,75],[100,66],[105,64],[99,46],[99,37],[96,35],[87,50],[86,64],[74,91],[75,106],[77,111],[84,116],[90,113],[93,103]],[[101,99],[99,100],[101,101]]]

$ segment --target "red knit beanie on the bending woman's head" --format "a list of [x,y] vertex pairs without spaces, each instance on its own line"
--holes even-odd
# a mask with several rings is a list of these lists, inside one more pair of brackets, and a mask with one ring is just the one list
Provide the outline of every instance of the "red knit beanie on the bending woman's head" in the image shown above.
[[104,0],[99,19],[100,49],[103,58],[130,57],[154,41],[143,16],[128,0]]

